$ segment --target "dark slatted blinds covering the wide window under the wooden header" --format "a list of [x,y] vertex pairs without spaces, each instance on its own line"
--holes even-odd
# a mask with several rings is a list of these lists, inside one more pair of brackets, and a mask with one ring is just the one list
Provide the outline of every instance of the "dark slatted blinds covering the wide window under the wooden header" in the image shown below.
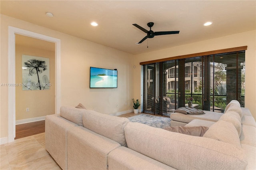
[[143,65],[144,113],[169,116],[188,105],[224,112],[236,99],[244,106],[245,51]]

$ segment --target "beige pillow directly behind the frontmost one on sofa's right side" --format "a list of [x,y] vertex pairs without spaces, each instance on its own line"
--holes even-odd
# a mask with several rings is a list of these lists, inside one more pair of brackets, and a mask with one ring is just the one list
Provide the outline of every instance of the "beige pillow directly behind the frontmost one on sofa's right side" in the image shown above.
[[241,125],[241,118],[238,115],[238,113],[234,111],[228,111],[220,117],[219,121],[226,121],[226,122],[232,123],[236,128],[238,135],[240,136],[242,125]]

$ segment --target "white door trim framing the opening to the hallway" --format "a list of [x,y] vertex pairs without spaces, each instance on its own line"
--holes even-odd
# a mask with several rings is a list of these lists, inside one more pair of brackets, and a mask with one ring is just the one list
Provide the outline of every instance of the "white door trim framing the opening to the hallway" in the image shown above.
[[[55,43],[55,108],[54,113],[60,110],[60,40],[42,34],[22,30],[12,26],[8,27],[8,82],[15,84],[15,34],[36,38],[47,42]],[[52,114],[52,113],[51,113]],[[16,87],[11,86],[8,89],[8,142],[13,142],[16,132]]]

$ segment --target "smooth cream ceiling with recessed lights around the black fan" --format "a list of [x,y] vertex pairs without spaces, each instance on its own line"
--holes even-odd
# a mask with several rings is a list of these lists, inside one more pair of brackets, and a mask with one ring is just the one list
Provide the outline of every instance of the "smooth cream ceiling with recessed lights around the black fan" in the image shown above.
[[[132,54],[256,29],[256,1],[245,0],[1,0],[1,14]],[[54,17],[47,17],[51,12]],[[91,22],[98,26],[91,26]],[[211,21],[211,26],[204,26]],[[149,30],[180,31],[136,45]],[[147,48],[148,45],[148,48]]]

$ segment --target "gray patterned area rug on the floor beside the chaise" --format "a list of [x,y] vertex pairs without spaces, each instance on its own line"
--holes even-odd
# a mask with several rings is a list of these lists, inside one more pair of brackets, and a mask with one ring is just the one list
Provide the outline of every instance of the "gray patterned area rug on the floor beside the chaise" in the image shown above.
[[148,114],[140,114],[128,118],[130,122],[138,122],[156,128],[170,127],[170,117],[160,117]]

